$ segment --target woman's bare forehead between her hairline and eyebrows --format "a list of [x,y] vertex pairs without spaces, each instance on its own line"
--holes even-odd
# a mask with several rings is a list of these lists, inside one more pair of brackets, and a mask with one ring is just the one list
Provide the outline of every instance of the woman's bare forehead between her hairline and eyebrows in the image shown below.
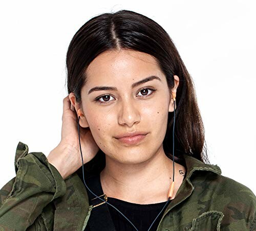
[[145,75],[159,74],[156,59],[130,49],[108,50],[97,56],[86,70],[87,83],[139,80]]

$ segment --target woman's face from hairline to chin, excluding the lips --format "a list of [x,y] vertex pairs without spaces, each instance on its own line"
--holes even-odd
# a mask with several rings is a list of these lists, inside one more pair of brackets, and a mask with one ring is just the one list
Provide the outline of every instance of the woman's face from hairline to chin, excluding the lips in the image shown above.
[[[135,84],[150,76],[155,77]],[[91,90],[96,87],[116,90]],[[106,157],[125,164],[147,161],[163,151],[168,110],[173,111],[171,98],[155,59],[127,49],[96,57],[87,69],[87,83],[81,90],[82,111],[95,142]],[[147,135],[132,145],[115,138],[134,131]]]

